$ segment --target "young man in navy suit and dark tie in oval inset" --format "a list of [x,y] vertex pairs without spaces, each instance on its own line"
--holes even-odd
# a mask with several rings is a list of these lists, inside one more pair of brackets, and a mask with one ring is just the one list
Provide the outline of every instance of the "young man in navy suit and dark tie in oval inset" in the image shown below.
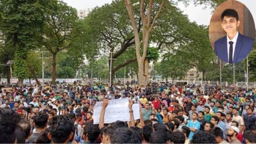
[[250,53],[254,39],[238,32],[240,21],[237,11],[226,9],[221,14],[221,20],[221,26],[227,35],[214,42],[214,52],[226,63],[238,63]]

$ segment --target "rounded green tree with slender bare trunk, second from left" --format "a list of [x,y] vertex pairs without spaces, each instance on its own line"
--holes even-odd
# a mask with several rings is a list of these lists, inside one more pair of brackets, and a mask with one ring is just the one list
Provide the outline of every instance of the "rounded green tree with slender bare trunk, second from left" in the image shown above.
[[43,32],[38,39],[52,54],[52,84],[56,80],[56,55],[78,42],[82,27],[76,10],[62,1],[51,1],[46,10]]

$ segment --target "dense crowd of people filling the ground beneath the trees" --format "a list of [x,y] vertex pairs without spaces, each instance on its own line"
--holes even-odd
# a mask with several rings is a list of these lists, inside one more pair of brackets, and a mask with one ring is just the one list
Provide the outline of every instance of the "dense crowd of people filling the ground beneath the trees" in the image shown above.
[[[255,97],[255,88],[170,83],[1,88],[0,143],[256,143]],[[120,98],[130,121],[106,124],[108,102]]]

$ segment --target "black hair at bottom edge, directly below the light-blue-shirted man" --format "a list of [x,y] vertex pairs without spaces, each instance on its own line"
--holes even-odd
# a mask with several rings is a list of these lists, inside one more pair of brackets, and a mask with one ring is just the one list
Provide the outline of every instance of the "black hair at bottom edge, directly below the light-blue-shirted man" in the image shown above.
[[215,136],[208,131],[197,131],[194,133],[190,143],[217,143]]

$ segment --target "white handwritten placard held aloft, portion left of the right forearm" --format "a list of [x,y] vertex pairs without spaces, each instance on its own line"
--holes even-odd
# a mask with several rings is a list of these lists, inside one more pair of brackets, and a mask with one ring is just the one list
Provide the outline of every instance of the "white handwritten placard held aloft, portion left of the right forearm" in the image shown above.
[[[99,124],[100,112],[102,109],[103,101],[97,102],[94,106],[94,124]],[[109,124],[111,122],[129,121],[129,101],[128,98],[122,98],[117,100],[109,100],[108,106],[105,109],[104,123]]]

